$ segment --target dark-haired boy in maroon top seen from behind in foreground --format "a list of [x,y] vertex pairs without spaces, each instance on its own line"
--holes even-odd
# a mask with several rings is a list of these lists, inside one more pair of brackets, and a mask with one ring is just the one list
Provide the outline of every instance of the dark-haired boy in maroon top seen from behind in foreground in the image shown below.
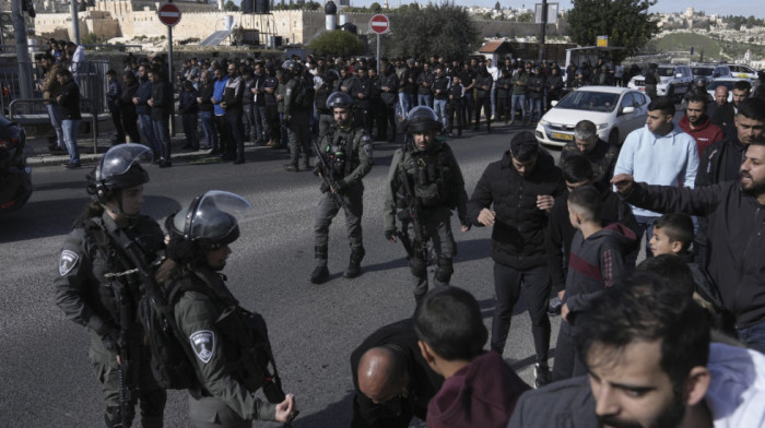
[[458,287],[428,293],[414,312],[423,358],[445,378],[427,405],[428,428],[505,428],[516,401],[529,390],[495,352],[475,298]]

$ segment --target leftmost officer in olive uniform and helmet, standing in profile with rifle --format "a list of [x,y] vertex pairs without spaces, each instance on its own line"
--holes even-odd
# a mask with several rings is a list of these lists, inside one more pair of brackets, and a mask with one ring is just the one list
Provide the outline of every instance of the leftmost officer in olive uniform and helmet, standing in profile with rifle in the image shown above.
[[137,273],[126,274],[136,266],[121,251],[134,245],[146,260],[155,260],[164,250],[160,225],[141,215],[149,174],[140,163],[152,158],[151,148],[141,144],[120,144],[106,152],[87,175],[94,202],[67,236],[54,280],[56,305],[90,331],[87,354],[102,383],[106,427],[129,427],[137,403],[142,427],[162,427],[167,400],[152,376],[150,352],[137,321],[142,283]]

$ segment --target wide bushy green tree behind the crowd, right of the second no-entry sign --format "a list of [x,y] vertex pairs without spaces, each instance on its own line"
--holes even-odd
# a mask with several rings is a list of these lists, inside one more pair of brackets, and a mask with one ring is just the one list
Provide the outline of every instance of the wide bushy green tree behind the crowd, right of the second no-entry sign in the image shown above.
[[462,7],[428,4],[399,8],[390,15],[389,57],[464,59],[480,47],[481,33]]

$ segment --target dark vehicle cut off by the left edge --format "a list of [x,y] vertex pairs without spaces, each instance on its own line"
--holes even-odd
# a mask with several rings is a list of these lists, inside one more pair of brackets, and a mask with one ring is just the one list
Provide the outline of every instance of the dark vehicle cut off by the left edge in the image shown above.
[[25,145],[24,128],[0,116],[0,214],[19,210],[32,195]]

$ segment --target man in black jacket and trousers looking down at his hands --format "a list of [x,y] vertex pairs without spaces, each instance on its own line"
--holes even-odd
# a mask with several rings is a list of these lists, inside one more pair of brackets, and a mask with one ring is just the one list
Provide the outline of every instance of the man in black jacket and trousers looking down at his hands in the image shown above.
[[[537,353],[537,385],[550,382],[550,274],[544,253],[548,213],[564,190],[553,157],[540,150],[529,131],[516,134],[502,160],[490,164],[468,202],[468,219],[493,226],[492,259],[496,309],[492,320],[492,350],[505,349],[513,308],[523,293],[531,317]],[[494,204],[494,210],[490,206]]]

